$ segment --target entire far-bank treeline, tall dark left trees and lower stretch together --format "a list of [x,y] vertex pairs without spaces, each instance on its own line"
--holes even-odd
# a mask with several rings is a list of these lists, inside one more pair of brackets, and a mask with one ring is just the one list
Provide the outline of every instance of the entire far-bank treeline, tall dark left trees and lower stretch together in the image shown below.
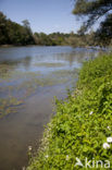
[[[10,19],[0,12],[0,45],[40,45],[40,46],[98,46],[99,36],[94,32],[89,34],[82,34],[71,32],[64,33],[34,33],[32,32],[30,24],[27,20],[24,20],[23,25],[12,22]],[[101,39],[100,39],[101,41]]]

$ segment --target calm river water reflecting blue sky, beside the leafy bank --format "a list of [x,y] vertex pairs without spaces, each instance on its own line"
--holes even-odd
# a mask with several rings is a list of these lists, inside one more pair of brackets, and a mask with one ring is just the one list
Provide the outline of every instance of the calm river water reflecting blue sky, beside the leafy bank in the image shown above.
[[98,50],[72,47],[0,48],[0,170],[21,170],[37,149],[54,99],[75,87],[82,63]]

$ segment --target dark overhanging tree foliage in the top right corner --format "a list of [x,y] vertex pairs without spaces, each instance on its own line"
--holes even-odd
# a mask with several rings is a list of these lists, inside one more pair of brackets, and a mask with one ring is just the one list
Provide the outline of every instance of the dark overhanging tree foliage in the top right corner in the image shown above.
[[79,31],[82,35],[88,31],[99,19],[101,19],[100,26],[95,34],[95,40],[100,46],[109,46],[112,42],[111,0],[76,0],[73,14],[79,17],[83,16],[84,19],[84,23]]

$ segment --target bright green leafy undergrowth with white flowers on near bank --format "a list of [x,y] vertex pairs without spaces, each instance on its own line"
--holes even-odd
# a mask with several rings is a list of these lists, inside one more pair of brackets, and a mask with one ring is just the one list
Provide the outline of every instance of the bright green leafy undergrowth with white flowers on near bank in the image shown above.
[[[84,63],[75,92],[55,102],[57,114],[27,170],[111,169],[112,54]],[[77,158],[84,167],[75,166]]]

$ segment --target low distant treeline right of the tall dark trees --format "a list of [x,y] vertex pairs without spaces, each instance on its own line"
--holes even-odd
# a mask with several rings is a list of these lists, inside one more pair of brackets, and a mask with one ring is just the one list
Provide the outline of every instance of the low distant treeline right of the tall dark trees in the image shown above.
[[42,46],[74,46],[74,47],[85,47],[85,46],[96,46],[95,45],[95,33],[79,35],[71,32],[70,34],[64,33],[35,33],[34,39],[36,45]]

